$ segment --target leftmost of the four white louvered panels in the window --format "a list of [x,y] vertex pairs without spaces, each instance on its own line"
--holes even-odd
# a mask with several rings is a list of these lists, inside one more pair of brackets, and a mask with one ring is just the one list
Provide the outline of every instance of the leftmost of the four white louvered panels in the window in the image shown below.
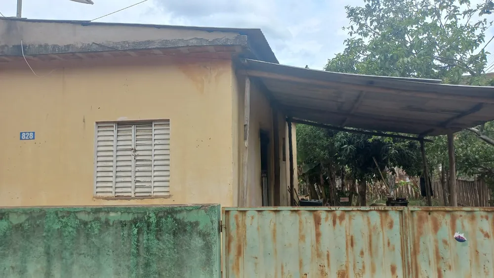
[[112,197],[114,181],[115,124],[98,124],[96,127],[96,178],[95,196]]

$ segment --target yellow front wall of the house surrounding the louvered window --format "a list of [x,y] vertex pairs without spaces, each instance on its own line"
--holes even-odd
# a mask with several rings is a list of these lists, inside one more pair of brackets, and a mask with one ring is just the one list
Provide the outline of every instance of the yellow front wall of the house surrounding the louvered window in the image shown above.
[[[55,70],[43,78],[0,66],[0,206],[234,205],[231,61],[180,61],[32,63],[39,75]],[[170,119],[171,197],[93,198],[95,122],[138,119]]]

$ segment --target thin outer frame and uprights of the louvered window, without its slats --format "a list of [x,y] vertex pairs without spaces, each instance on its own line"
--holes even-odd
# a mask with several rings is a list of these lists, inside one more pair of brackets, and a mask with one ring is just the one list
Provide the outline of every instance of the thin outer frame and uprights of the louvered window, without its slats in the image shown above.
[[[152,191],[151,191],[151,196],[135,196],[135,187],[131,189],[131,195],[132,196],[115,196],[115,187],[113,188],[112,196],[97,196],[97,159],[98,159],[98,125],[105,125],[105,124],[114,124],[116,126],[116,129],[114,129],[114,151],[116,151],[116,145],[117,145],[117,131],[118,131],[118,126],[119,125],[131,125],[133,126],[132,129],[135,130],[135,126],[139,124],[151,124],[154,126],[156,122],[167,122],[168,124],[168,167],[170,168],[169,171],[169,176],[168,176],[168,194],[167,195],[157,195],[153,196],[153,187],[154,184],[152,184]],[[133,144],[135,147],[135,134],[132,136],[133,137]],[[154,141],[154,138],[153,138]],[[154,143],[153,143],[154,144]],[[153,147],[154,148],[154,147]],[[152,149],[154,150],[154,149]],[[152,156],[154,157],[154,152],[152,152]],[[132,164],[135,164],[135,156],[133,156],[133,161]],[[154,168],[154,164],[151,165],[151,167]],[[113,171],[116,172],[116,167],[117,165],[113,165],[114,169]],[[134,167],[134,166],[132,166]],[[94,154],[93,154],[93,198],[94,199],[169,199],[171,198],[171,119],[138,119],[138,120],[104,120],[104,121],[96,121],[94,123]],[[132,178],[135,179],[135,169],[132,169]],[[151,175],[152,177],[152,182],[154,183],[154,176],[153,174]],[[113,180],[112,180],[113,181]],[[113,181],[114,182],[114,181]],[[114,182],[115,186],[115,182]]]

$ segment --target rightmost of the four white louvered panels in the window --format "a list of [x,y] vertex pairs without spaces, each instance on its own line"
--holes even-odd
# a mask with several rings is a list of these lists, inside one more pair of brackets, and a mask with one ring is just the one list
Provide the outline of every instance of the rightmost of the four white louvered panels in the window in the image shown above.
[[170,121],[153,124],[153,196],[170,195]]

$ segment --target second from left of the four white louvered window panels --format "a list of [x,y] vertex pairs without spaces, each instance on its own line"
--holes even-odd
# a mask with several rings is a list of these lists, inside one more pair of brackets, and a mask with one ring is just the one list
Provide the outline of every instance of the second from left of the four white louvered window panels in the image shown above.
[[115,197],[132,196],[133,126],[117,124]]

